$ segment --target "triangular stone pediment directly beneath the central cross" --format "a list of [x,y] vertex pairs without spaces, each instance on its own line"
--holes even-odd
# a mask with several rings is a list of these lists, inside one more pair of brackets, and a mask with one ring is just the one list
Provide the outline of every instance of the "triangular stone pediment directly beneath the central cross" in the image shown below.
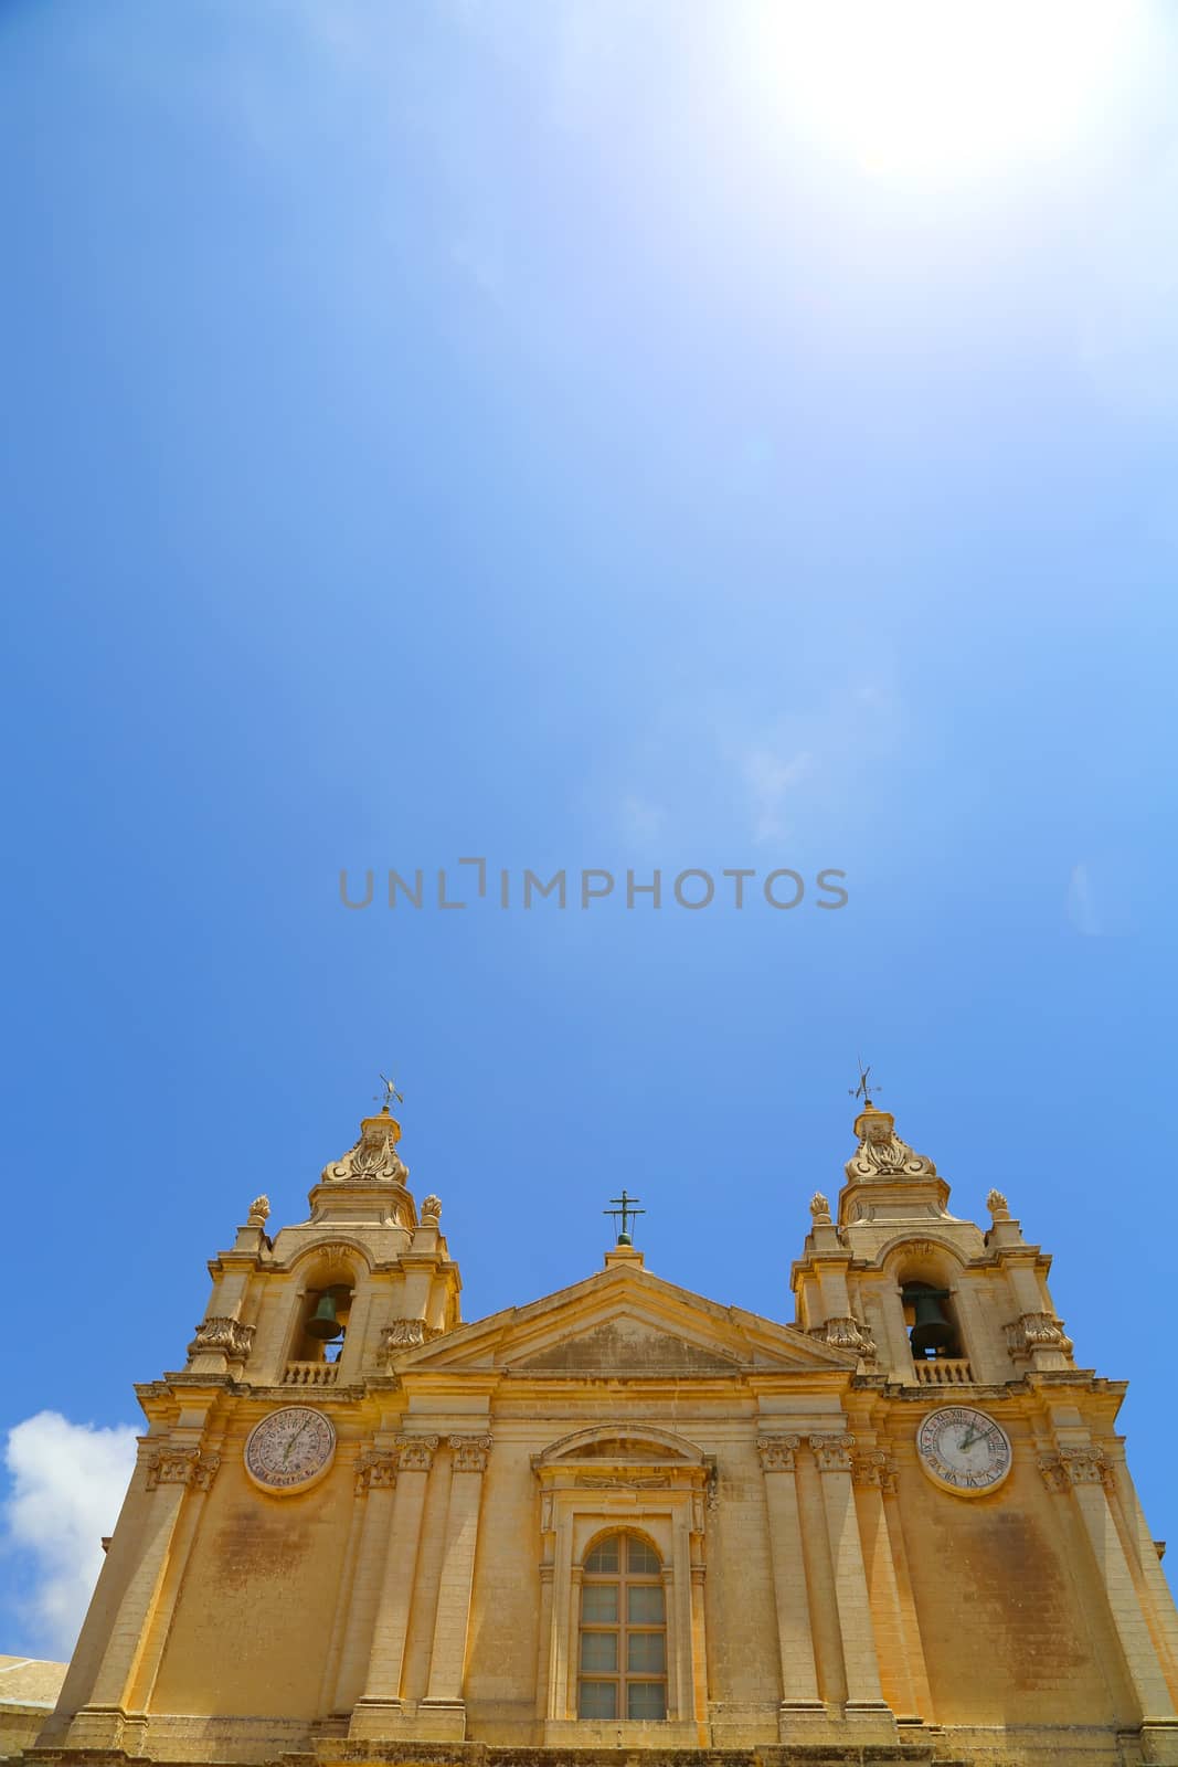
[[636,1267],[611,1267],[525,1308],[404,1350],[397,1373],[555,1380],[846,1373],[857,1357],[795,1325],[719,1306]]

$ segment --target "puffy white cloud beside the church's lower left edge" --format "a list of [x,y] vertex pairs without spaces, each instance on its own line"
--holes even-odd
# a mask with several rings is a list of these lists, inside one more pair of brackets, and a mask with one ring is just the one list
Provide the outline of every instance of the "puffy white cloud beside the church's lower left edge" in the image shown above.
[[37,1412],[9,1431],[4,1550],[28,1566],[19,1610],[37,1650],[67,1657],[134,1465],[131,1424],[101,1430]]

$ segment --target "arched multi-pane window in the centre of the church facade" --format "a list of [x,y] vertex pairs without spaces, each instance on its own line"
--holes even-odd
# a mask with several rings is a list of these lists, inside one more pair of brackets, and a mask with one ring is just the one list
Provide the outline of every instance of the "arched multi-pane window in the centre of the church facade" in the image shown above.
[[581,1576],[581,1718],[666,1718],[662,1560],[636,1534],[611,1534]]

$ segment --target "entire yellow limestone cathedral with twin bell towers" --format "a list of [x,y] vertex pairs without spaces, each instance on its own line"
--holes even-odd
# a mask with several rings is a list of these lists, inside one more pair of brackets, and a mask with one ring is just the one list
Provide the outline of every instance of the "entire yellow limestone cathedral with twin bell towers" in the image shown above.
[[600,1269],[466,1323],[394,1101],[138,1387],[26,1767],[1178,1763],[1125,1384],[998,1189],[952,1214],[864,1088],[793,1323],[650,1272],[625,1194]]

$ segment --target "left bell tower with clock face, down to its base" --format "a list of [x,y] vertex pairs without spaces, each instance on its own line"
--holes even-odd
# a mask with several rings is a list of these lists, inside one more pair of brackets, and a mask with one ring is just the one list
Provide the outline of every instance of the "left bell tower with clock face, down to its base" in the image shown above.
[[42,1748],[203,1751],[175,1714],[207,1712],[215,1686],[249,1751],[260,1700],[297,1739],[360,1693],[373,1567],[353,1484],[392,1495],[394,1362],[461,1323],[442,1202],[419,1210],[389,1104],[306,1221],[270,1237],[254,1198],[208,1265],[184,1369],[136,1389],[148,1433]]

